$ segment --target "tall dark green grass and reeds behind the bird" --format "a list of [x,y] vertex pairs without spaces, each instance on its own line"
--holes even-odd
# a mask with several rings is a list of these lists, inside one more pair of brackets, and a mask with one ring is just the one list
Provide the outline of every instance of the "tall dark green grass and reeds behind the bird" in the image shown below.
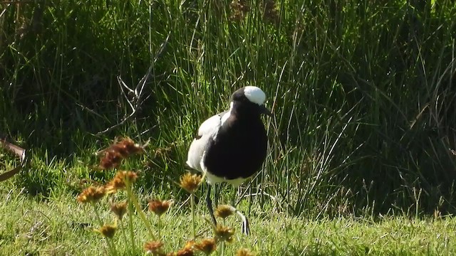
[[[33,152],[10,185],[76,195],[112,176],[93,153],[121,134],[150,139],[128,165],[138,188],[179,196],[198,124],[257,85],[274,118],[249,203],[454,213],[455,16],[450,0],[2,1],[0,132]],[[148,68],[138,112],[98,134],[131,113],[118,77],[135,87]]]

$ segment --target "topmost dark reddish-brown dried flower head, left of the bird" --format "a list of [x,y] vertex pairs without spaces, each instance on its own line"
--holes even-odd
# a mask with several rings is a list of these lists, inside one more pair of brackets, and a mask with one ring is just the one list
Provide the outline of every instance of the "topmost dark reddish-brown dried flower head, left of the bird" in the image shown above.
[[141,146],[140,144],[135,144],[130,138],[123,138],[120,142],[98,152],[98,154],[103,153],[103,157],[100,159],[100,165],[98,167],[100,169],[117,168],[122,159],[126,159],[132,154],[144,152],[144,147],[145,146]]

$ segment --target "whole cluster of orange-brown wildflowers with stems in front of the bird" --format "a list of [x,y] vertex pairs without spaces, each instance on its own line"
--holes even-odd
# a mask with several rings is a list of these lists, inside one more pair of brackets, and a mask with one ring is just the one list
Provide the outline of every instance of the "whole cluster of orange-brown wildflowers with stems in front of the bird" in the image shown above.
[[[108,149],[103,150],[104,155],[100,160],[101,169],[109,169],[113,167],[120,166],[122,159],[127,158],[131,154],[137,154],[144,150],[143,146],[135,144],[131,139],[123,139],[117,144],[113,144]],[[148,209],[151,213],[154,213],[157,216],[157,233],[152,230],[152,226],[149,223],[149,220],[145,218],[145,213],[142,210],[142,206],[138,203],[138,199],[133,193],[132,186],[133,183],[138,179],[138,174],[134,171],[118,171],[115,176],[105,183],[104,185],[97,184],[96,186],[89,186],[85,188],[77,197],[77,200],[81,203],[90,203],[95,210],[96,219],[98,220],[99,227],[95,229],[95,232],[100,233],[105,238],[105,242],[108,245],[108,250],[111,255],[118,255],[118,252],[115,249],[115,237],[116,233],[123,235],[123,241],[126,246],[130,247],[134,254],[138,254],[138,242],[135,241],[135,227],[133,227],[133,215],[132,210],[135,210],[136,213],[142,219],[142,222],[145,224],[145,228],[149,231],[150,238],[148,242],[145,242],[143,249],[147,254],[157,255],[157,256],[186,256],[186,255],[211,255],[215,250],[217,250],[217,244],[222,244],[222,255],[224,255],[224,244],[226,242],[232,242],[234,240],[234,229],[229,228],[226,225],[217,225],[213,226],[213,238],[198,238],[199,235],[196,233],[196,220],[195,220],[195,192],[202,183],[203,177],[198,174],[186,173],[180,177],[180,187],[185,191],[190,193],[191,206],[192,206],[192,226],[193,226],[193,238],[188,241],[184,247],[180,249],[166,252],[164,244],[162,242],[161,230],[162,230],[162,215],[165,215],[170,207],[174,204],[172,200],[161,200],[157,198],[152,198],[148,201]],[[98,213],[98,206],[100,204],[95,204],[100,201],[104,196],[113,195],[118,191],[125,191],[127,200],[114,202],[110,200],[110,211],[115,215],[114,224],[105,224],[103,223],[103,218],[101,218]],[[134,207],[134,208],[133,208]],[[235,208],[228,205],[221,205],[215,210],[215,215],[218,218],[228,218],[229,215],[232,215],[235,212]],[[123,217],[128,215],[128,223],[124,223]],[[117,223],[120,225],[118,226]],[[125,229],[130,230],[130,239],[126,235]],[[158,239],[157,239],[158,238]],[[237,255],[252,255],[247,253],[245,250],[239,250]]]

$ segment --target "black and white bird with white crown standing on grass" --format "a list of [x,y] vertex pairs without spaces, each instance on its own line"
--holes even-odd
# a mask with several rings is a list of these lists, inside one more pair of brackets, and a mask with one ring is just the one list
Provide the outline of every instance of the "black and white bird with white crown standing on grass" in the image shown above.
[[[264,107],[265,100],[259,87],[242,87],[232,94],[228,111],[210,117],[199,127],[188,151],[187,165],[205,174],[209,185],[227,182],[237,188],[261,169],[267,149],[261,114],[272,116]],[[207,208],[217,224],[211,186],[207,189]],[[242,217],[242,232],[248,234],[247,218],[237,213]]]

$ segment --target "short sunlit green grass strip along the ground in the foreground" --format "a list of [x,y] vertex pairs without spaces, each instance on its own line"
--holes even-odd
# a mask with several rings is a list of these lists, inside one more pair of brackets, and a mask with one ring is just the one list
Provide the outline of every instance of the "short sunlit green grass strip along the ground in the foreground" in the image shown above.
[[[93,228],[93,210],[81,205],[73,196],[38,200],[20,191],[1,190],[0,255],[104,255],[105,242]],[[102,202],[100,205],[107,205]],[[242,206],[241,206],[242,207]],[[113,219],[101,207],[102,218]],[[189,203],[177,202],[162,218],[162,241],[167,251],[177,250],[192,238]],[[197,216],[208,218],[204,204],[197,207]],[[157,218],[148,214],[154,229]],[[227,245],[227,255],[240,247],[258,255],[454,255],[456,253],[454,218],[309,218],[290,217],[252,209],[252,234],[239,233],[239,222],[228,223],[237,228],[235,238]],[[197,218],[197,230],[211,236],[208,225]],[[206,231],[204,231],[206,230]],[[149,240],[144,225],[135,218],[138,246]],[[123,237],[116,234],[115,245],[120,255],[128,255]],[[141,255],[140,253],[139,255]],[[214,255],[220,255],[220,250]]]

